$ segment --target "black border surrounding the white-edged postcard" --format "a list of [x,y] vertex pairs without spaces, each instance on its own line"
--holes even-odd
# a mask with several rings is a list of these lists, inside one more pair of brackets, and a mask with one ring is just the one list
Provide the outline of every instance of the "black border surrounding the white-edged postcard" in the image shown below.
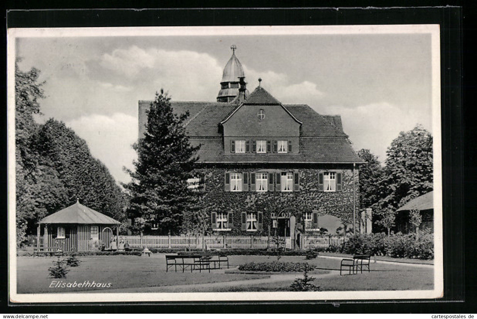
[[[12,2],[12,1],[11,1]],[[10,2],[11,9],[31,9],[41,8],[35,6],[32,1]],[[40,1],[39,1],[40,2]],[[94,8],[98,3],[94,1],[80,2],[83,8]],[[322,7],[336,7],[337,1],[322,1]],[[353,1],[355,6],[368,7],[368,4],[361,5],[359,1]],[[362,1],[363,2],[363,1]],[[389,2],[389,1],[388,1]],[[406,3],[407,2],[407,3]],[[420,5],[436,6],[439,1],[420,1]],[[415,5],[415,1],[394,1],[394,6],[401,8],[299,8],[299,9],[162,9],[162,10],[41,10],[41,11],[8,11],[6,16],[7,26],[10,27],[104,27],[104,26],[197,26],[197,25],[345,25],[345,24],[440,24],[441,26],[441,100],[442,100],[442,154],[443,154],[443,200],[444,200],[444,298],[440,302],[429,300],[419,301],[332,301],[328,303],[306,302],[249,302],[249,303],[167,303],[160,307],[143,305],[138,307],[128,304],[128,307],[116,308],[116,306],[88,305],[87,307],[68,307],[70,305],[57,305],[55,307],[25,307],[14,306],[4,308],[5,312],[30,313],[30,312],[52,312],[52,313],[169,313],[169,312],[204,312],[204,313],[287,313],[298,311],[307,312],[350,312],[358,310],[368,313],[406,312],[409,307],[414,308],[413,312],[421,313],[443,313],[454,309],[464,309],[465,304],[458,303],[464,296],[464,207],[463,207],[463,104],[462,104],[462,36],[464,15],[463,7],[413,7],[402,8],[405,5]],[[78,3],[77,3],[78,4]],[[131,3],[124,3],[125,7],[130,7]],[[129,5],[128,5],[129,4]],[[136,3],[135,3],[136,4]],[[149,3],[151,4],[151,3]],[[240,7],[241,3],[237,6]],[[349,1],[347,4],[350,5]],[[64,1],[41,2],[43,8],[54,9],[64,7]],[[70,4],[71,5],[71,4]],[[121,1],[101,3],[104,8],[121,5]],[[136,4],[137,5],[137,4]],[[316,5],[316,4],[315,4]],[[376,4],[374,4],[376,5]],[[386,3],[386,5],[390,5]],[[445,5],[445,4],[440,4]],[[47,7],[48,6],[48,7]],[[179,6],[175,4],[176,8]],[[391,5],[393,6],[393,5]],[[145,5],[144,7],[148,7]],[[244,6],[243,6],[244,7]],[[468,6],[464,6],[469,8]],[[73,9],[73,8],[71,8]],[[468,12],[468,11],[467,11]],[[467,18],[468,19],[468,18]],[[469,32],[467,29],[466,32]],[[6,54],[6,53],[4,53]],[[6,114],[2,114],[5,115]],[[6,120],[4,121],[6,124]],[[6,138],[6,125],[3,126],[2,133]],[[6,140],[6,139],[4,139]],[[2,154],[6,154],[6,143],[2,144]],[[3,164],[3,162],[2,162]],[[6,167],[2,165],[2,168]],[[2,170],[6,177],[5,171]],[[2,176],[2,177],[3,177]],[[6,181],[6,178],[3,180]],[[5,189],[6,189],[6,183]],[[2,185],[3,186],[3,185]],[[6,193],[6,192],[5,192]],[[6,203],[6,201],[5,201]],[[3,206],[6,207],[6,204]],[[5,210],[7,212],[7,210]],[[6,223],[2,237],[7,234]],[[6,238],[3,243],[7,243]],[[475,241],[474,241],[475,243]],[[1,253],[6,256],[6,247],[1,246]],[[3,258],[2,258],[3,259]],[[3,260],[6,260],[3,259]],[[1,266],[6,265],[1,262]],[[7,272],[3,272],[5,275]],[[6,282],[6,281],[5,281]],[[468,282],[467,282],[468,284]],[[2,288],[6,285],[2,286]],[[3,291],[2,291],[3,292]],[[469,291],[467,291],[469,292]],[[7,295],[3,295],[2,297]],[[467,294],[468,298],[475,297],[474,293]],[[7,298],[1,298],[7,301]],[[457,303],[445,303],[442,301],[457,301]],[[126,305],[126,303],[119,303]],[[115,305],[119,305],[115,304]],[[359,304],[359,305],[357,305]],[[187,306],[186,306],[187,305]],[[227,306],[226,306],[227,305]],[[336,307],[339,305],[339,307]],[[469,304],[467,304],[469,305]],[[193,306],[193,308],[191,308]],[[356,308],[357,307],[357,308]],[[457,310],[458,311],[458,310]],[[475,311],[474,311],[475,312]]]

